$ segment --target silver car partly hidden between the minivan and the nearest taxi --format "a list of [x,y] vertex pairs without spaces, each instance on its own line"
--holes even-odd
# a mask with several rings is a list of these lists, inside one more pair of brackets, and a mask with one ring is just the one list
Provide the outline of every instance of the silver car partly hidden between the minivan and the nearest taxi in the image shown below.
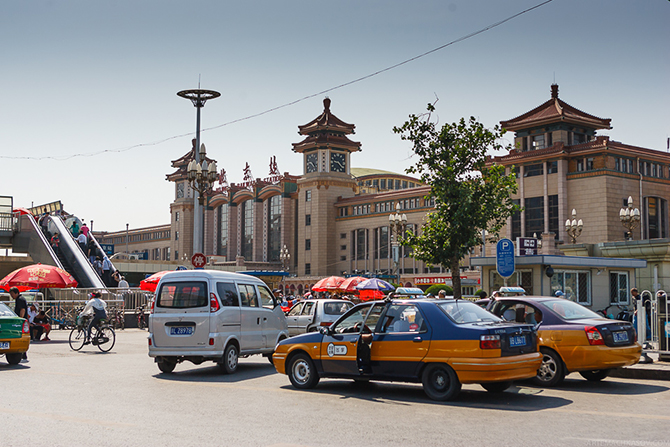
[[315,332],[320,326],[330,326],[340,315],[354,306],[348,300],[314,299],[295,304],[288,315],[288,334],[290,336]]

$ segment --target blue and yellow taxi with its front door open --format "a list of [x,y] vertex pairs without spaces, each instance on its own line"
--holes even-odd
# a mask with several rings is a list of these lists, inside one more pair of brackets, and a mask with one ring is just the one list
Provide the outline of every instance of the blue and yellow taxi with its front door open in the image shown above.
[[281,341],[273,360],[298,389],[321,378],[404,381],[449,400],[464,383],[500,392],[534,377],[542,356],[533,325],[505,322],[467,300],[391,299]]

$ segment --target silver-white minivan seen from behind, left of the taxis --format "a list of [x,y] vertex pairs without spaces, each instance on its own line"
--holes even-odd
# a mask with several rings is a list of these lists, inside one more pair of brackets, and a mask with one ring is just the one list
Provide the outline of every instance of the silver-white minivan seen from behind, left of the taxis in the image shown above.
[[149,356],[171,373],[185,360],[214,361],[227,373],[239,357],[262,354],[288,338],[286,317],[260,279],[217,270],[166,273],[149,316]]

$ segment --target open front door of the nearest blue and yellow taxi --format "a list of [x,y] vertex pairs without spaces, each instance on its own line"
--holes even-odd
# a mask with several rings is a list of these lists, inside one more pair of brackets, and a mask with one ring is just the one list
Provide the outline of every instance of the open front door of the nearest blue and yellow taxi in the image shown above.
[[[383,310],[383,303],[370,303],[352,308],[323,336],[321,365],[325,374],[360,375],[358,349],[361,337],[374,331]],[[376,316],[376,318],[375,318]]]

